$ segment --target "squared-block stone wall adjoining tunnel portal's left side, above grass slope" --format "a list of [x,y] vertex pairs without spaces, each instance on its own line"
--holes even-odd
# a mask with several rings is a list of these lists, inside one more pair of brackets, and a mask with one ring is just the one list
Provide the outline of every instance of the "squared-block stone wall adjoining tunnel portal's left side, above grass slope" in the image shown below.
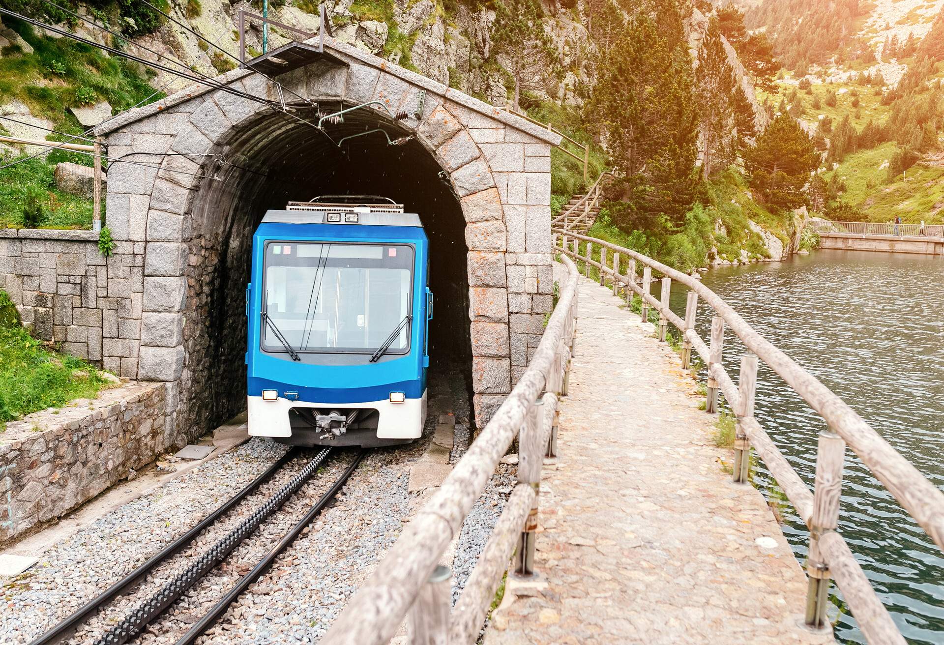
[[144,243],[98,252],[91,230],[0,230],[0,288],[42,340],[126,378],[138,376]]

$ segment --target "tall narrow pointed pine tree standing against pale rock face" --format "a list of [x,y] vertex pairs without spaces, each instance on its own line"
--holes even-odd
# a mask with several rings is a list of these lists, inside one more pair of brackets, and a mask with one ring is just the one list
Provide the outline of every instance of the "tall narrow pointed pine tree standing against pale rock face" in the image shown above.
[[701,174],[707,179],[727,168],[734,161],[735,152],[733,93],[737,79],[728,62],[716,18],[709,22],[701,41],[695,87],[700,105]]

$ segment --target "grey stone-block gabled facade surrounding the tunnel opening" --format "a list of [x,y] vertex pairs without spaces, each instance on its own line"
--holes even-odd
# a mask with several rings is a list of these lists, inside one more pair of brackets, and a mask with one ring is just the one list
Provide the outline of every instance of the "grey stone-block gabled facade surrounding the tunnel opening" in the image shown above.
[[[316,102],[377,100],[393,111],[412,108],[425,92],[423,113],[399,126],[413,130],[462,201],[473,389],[482,425],[524,371],[551,307],[552,137],[546,129],[355,47],[329,39],[326,50],[346,65],[312,64],[278,76],[278,82]],[[274,83],[247,70],[234,70],[219,81],[278,100]],[[160,165],[116,164],[109,173],[108,223],[114,238],[131,249],[129,268],[142,265],[135,249],[146,244],[143,274],[131,273],[133,289],[128,288],[132,296],[141,290],[141,276],[144,312],[140,293],[136,308],[126,308],[127,315],[119,312],[119,326],[138,335],[120,338],[127,346],[114,349],[126,352],[123,374],[168,382],[169,407],[180,413],[171,423],[182,433],[191,433],[200,417],[198,410],[188,410],[191,402],[205,406],[198,400],[202,383],[185,382],[184,376],[185,366],[195,374],[193,364],[208,357],[189,354],[182,337],[185,319],[199,314],[195,303],[188,303],[187,263],[198,224],[194,200],[207,185],[200,177],[211,171],[212,153],[225,150],[242,128],[254,127],[261,114],[278,118],[270,112],[229,93],[194,87],[130,110],[96,130],[106,137],[111,156],[148,152],[150,161]],[[108,280],[110,289],[111,273]]]

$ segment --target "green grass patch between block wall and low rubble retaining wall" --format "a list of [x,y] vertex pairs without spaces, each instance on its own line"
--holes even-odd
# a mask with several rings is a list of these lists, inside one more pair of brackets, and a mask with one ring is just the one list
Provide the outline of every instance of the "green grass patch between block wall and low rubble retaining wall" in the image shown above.
[[0,327],[0,424],[72,399],[92,399],[106,385],[93,365],[49,351],[18,325]]

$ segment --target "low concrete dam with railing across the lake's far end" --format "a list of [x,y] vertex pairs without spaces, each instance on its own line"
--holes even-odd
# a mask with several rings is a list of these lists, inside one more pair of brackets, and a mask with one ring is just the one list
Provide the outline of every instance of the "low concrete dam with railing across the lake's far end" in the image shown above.
[[819,233],[820,248],[944,256],[944,226],[939,224],[815,219],[810,226]]

